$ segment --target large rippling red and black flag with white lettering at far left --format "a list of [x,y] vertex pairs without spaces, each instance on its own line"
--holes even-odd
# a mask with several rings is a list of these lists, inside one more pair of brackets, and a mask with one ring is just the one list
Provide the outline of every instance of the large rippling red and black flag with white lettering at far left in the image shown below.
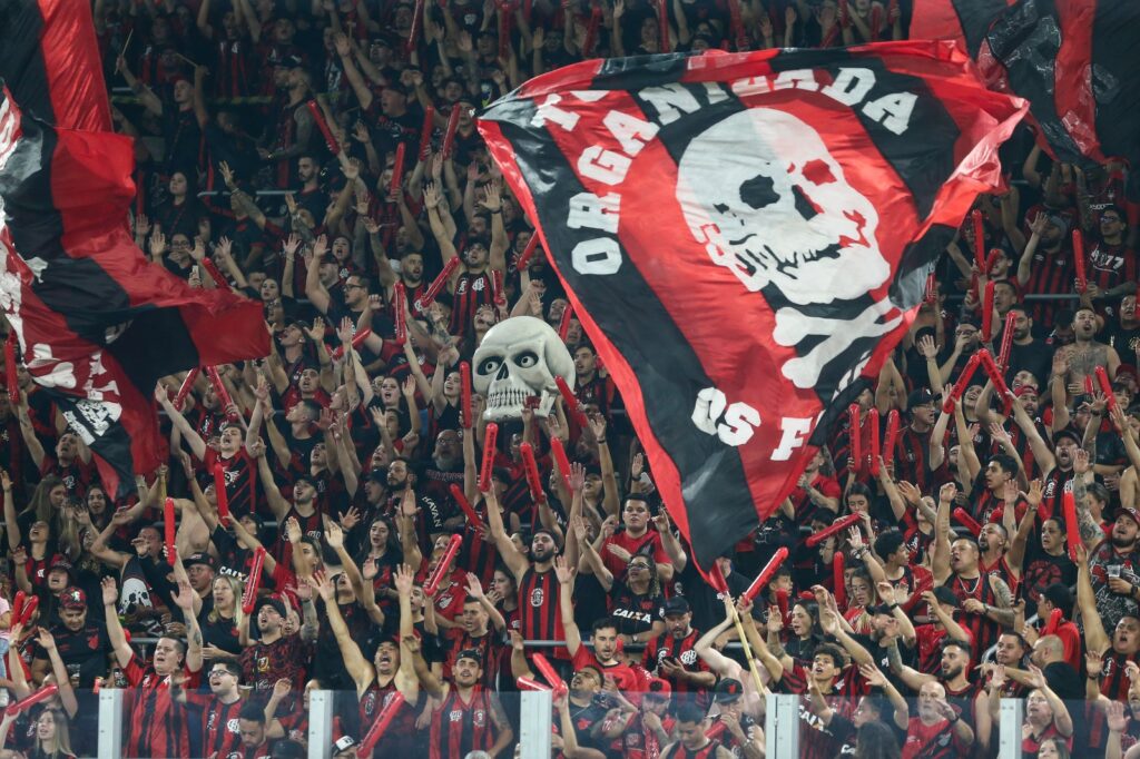
[[268,352],[261,308],[135,246],[131,141],[111,126],[89,2],[0,0],[0,307],[116,496],[164,449],[158,377]]

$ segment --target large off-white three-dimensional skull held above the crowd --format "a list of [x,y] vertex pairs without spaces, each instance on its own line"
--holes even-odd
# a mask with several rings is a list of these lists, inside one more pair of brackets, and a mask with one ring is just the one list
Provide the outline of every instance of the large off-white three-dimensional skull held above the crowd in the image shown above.
[[573,359],[551,325],[535,317],[512,317],[488,330],[472,359],[475,392],[487,401],[488,422],[518,419],[528,398],[538,398],[546,416],[559,392],[554,377],[573,387]]

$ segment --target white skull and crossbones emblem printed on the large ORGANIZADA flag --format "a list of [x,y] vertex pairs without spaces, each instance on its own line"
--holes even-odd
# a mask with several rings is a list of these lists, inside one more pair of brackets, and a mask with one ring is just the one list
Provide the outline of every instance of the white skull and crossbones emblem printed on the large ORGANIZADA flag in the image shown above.
[[[723,119],[689,144],[677,171],[677,199],[693,237],[749,292],[771,285],[791,303],[811,305],[861,297],[890,276],[874,204],[846,180],[819,132],[791,114],[748,108]],[[897,326],[898,316],[880,323],[890,310],[883,301],[862,315],[824,319],[780,309],[779,344],[825,337],[787,361],[784,376],[814,386],[855,340]]]

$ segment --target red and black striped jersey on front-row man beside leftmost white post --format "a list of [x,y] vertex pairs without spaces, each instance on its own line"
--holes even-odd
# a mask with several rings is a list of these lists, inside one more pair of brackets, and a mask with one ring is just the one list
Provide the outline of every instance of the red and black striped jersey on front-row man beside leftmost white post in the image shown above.
[[[184,674],[187,677],[184,687],[196,688],[199,674],[189,670]],[[123,668],[123,675],[135,688],[124,756],[190,756],[190,727],[186,719],[186,705],[171,697],[170,677],[160,676],[150,663],[140,662],[137,654]]]

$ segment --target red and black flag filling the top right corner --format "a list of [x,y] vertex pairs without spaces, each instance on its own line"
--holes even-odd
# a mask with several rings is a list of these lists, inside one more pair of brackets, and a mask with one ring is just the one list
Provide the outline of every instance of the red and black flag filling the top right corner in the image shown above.
[[1140,172],[1138,30],[1140,2],[1018,0],[986,38],[994,62],[1004,68],[992,79],[1029,101],[1058,158],[1123,158],[1134,179]]

